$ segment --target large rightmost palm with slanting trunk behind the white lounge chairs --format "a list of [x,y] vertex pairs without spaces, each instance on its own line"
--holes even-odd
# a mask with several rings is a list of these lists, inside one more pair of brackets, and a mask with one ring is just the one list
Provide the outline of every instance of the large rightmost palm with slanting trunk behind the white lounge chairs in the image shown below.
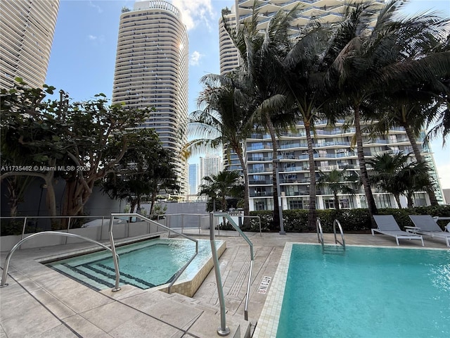
[[340,56],[330,73],[337,76],[338,92],[353,113],[361,180],[372,215],[377,213],[377,208],[368,180],[361,131],[361,121],[373,118],[368,115],[368,112],[375,111],[370,100],[386,89],[398,89],[410,81],[435,78],[437,68],[449,69],[445,61],[448,62],[448,56],[445,55],[436,56],[439,60],[434,67],[427,60],[421,60],[427,55],[428,46],[435,42],[433,32],[442,34],[445,21],[426,13],[401,18],[399,8],[405,3],[403,0],[389,1],[381,9],[371,30],[368,30],[373,18],[371,4],[356,5],[348,11],[344,24],[349,29],[342,35],[347,44],[340,49]]

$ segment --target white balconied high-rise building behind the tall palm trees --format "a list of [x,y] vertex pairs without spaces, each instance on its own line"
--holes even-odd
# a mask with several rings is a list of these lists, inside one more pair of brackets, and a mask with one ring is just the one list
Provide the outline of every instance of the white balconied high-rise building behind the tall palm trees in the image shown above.
[[[364,2],[368,0],[358,0]],[[354,1],[352,1],[354,2]],[[252,8],[255,1],[236,0],[235,6],[224,8],[224,19],[231,27],[236,27],[237,23],[243,23],[252,17]],[[382,6],[385,1],[373,1],[375,5]],[[333,23],[342,17],[345,1],[276,1],[259,0],[255,9],[258,11],[257,17],[259,29],[264,30],[270,18],[280,9],[290,9],[295,4],[300,4],[302,12],[297,20],[290,27],[293,35],[314,16],[322,23]],[[227,73],[239,64],[236,48],[231,43],[229,36],[224,30],[223,19],[219,20],[219,54],[221,74]],[[354,128],[342,129],[344,120],[338,121],[334,127],[328,127],[326,121],[316,123],[316,133],[314,137],[314,161],[318,170],[329,173],[330,170],[342,170],[346,168],[349,172],[359,173],[359,162],[356,151],[351,147]],[[306,133],[302,121],[295,125],[296,131],[284,132],[278,137],[278,158],[279,183],[281,191],[281,206],[283,209],[308,208],[309,206],[309,164]],[[437,180],[435,163],[432,152],[428,144],[423,144],[421,135],[417,144],[421,149],[423,158],[427,161],[432,170],[431,175]],[[272,210],[274,208],[272,166],[274,165],[273,147],[268,134],[255,132],[245,140],[243,144],[245,162],[248,169],[248,182],[250,186],[250,210]],[[398,153],[403,151],[409,154],[412,151],[411,144],[403,128],[392,128],[388,134],[378,137],[378,139],[364,138],[364,154],[373,156],[383,152]],[[225,151],[224,151],[225,153]],[[230,170],[240,170],[240,163],[236,154],[224,156],[224,168]],[[355,187],[356,188],[356,187]],[[435,190],[437,200],[443,201],[442,189]],[[395,207],[394,197],[385,192],[374,190],[374,198],[378,207]],[[362,189],[356,195],[342,194],[339,196],[341,208],[364,208],[366,207],[366,197]],[[428,195],[418,193],[415,196],[415,205],[425,205]],[[317,208],[335,208],[333,194],[329,189],[317,191]]]

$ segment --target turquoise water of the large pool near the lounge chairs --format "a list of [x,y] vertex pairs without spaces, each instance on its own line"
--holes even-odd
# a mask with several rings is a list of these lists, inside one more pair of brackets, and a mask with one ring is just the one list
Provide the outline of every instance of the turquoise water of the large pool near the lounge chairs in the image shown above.
[[450,337],[450,251],[294,244],[277,338]]

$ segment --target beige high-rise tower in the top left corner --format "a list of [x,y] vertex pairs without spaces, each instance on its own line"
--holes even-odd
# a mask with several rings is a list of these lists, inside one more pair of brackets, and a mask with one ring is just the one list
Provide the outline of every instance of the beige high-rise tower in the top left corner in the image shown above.
[[59,0],[0,1],[0,88],[15,77],[41,88],[49,66]]

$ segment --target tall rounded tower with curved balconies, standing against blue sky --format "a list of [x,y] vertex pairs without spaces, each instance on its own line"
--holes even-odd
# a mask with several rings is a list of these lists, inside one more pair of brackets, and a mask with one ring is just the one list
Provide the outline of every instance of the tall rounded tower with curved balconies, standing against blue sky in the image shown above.
[[167,1],[139,1],[122,9],[115,61],[113,103],[154,107],[141,127],[158,133],[176,154],[181,195],[188,192],[187,163],[179,156],[187,142],[188,33],[180,11]]

